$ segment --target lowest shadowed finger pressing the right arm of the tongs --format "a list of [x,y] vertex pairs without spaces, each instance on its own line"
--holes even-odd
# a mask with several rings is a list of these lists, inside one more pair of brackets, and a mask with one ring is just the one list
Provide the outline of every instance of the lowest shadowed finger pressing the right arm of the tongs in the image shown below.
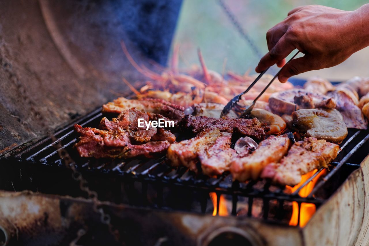
[[285,83],[290,77],[307,72],[310,70],[315,70],[313,59],[309,55],[304,55],[304,57],[293,59],[288,62],[278,75],[280,82]]

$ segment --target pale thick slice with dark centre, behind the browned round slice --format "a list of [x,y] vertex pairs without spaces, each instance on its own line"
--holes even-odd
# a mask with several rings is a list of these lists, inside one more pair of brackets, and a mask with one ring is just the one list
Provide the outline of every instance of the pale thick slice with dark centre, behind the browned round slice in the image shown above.
[[269,107],[274,113],[292,114],[297,109],[324,108],[334,109],[336,102],[323,94],[304,89],[291,89],[273,93],[269,98]]

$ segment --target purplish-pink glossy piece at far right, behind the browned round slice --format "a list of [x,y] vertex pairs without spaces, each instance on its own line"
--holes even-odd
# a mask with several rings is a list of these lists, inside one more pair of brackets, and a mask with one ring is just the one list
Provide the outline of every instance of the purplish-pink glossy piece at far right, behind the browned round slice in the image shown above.
[[335,90],[329,93],[329,95],[337,101],[336,109],[342,114],[348,128],[368,128],[368,121],[350,96],[342,90]]

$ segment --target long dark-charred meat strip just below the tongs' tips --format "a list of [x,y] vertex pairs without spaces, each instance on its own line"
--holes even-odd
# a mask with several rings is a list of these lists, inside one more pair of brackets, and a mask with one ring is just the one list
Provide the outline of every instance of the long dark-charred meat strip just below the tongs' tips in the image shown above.
[[233,133],[239,137],[248,136],[256,141],[265,138],[265,131],[269,130],[266,123],[260,123],[254,119],[235,119],[230,117],[222,117],[221,119],[186,115],[178,122],[178,128],[192,136],[203,131],[208,127],[215,127],[220,131]]

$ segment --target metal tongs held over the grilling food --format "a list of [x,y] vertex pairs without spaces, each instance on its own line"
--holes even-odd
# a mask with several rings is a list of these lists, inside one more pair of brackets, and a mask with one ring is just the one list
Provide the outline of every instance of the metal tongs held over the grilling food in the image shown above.
[[[293,58],[295,58],[296,55],[299,54],[299,52],[300,51],[297,51],[296,54],[294,54],[293,57],[288,62],[290,62]],[[261,97],[261,95],[263,95],[263,93],[266,91],[266,89],[268,89],[268,87],[277,78],[277,76],[279,75],[282,68],[277,72],[277,74],[268,83],[268,85],[265,86],[265,88],[262,90],[262,92],[260,92],[260,94],[254,99],[254,101],[251,103],[251,105],[245,107],[245,106],[239,105],[238,102],[239,102],[239,100],[241,100],[242,95],[246,94],[252,88],[252,86],[254,86],[255,83],[258,82],[258,80],[266,73],[266,71],[268,71],[269,68],[270,68],[270,66],[268,68],[266,68],[264,71],[262,71],[259,74],[258,78],[256,78],[254,80],[254,82],[252,82],[251,85],[244,92],[242,92],[241,94],[235,96],[232,100],[230,100],[227,103],[227,105],[225,105],[224,109],[222,110],[222,113],[220,114],[220,117],[228,115],[228,113],[230,113],[230,111],[232,110],[238,117],[247,118],[250,115],[251,110],[254,108],[256,101]]]

